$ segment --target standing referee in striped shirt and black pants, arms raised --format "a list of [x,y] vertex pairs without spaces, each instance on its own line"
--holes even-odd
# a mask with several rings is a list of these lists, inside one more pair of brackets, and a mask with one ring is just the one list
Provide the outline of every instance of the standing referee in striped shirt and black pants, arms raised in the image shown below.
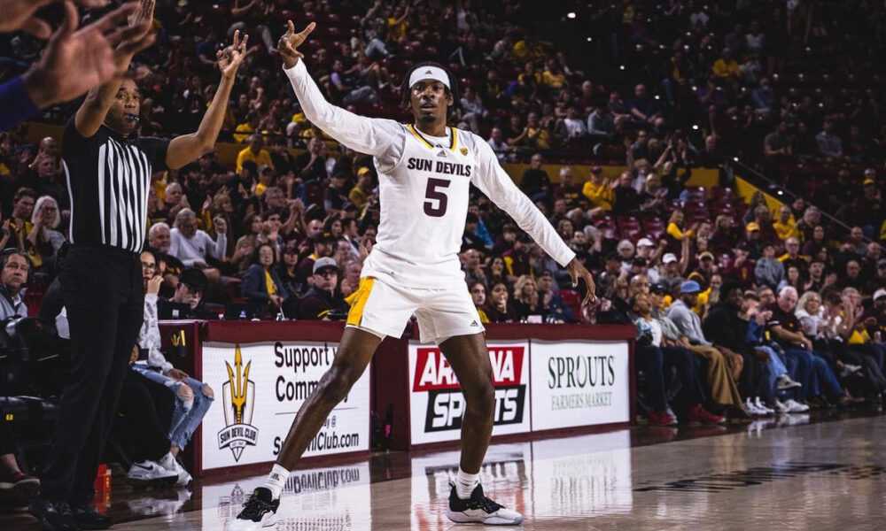
[[[143,0],[142,6],[142,16],[152,17],[153,0]],[[219,88],[194,134],[171,141],[138,137],[140,95],[131,80],[91,90],[65,127],[72,245],[59,280],[72,352],[40,496],[30,506],[44,529],[112,525],[110,518],[90,509],[89,501],[142,326],[139,252],[146,236],[151,174],[182,167],[213,147],[245,45],[246,37],[240,42],[237,32],[233,47],[218,52]]]

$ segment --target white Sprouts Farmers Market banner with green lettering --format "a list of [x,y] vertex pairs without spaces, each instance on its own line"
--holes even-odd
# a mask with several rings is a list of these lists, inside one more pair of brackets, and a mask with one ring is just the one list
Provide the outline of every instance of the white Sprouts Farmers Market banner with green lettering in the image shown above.
[[532,430],[631,419],[627,342],[532,340]]

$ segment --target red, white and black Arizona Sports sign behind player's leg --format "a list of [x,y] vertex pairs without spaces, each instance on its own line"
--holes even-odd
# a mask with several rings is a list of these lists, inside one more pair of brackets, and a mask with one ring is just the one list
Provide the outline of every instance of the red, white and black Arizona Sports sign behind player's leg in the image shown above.
[[[493,367],[493,435],[530,431],[529,342],[488,342]],[[455,441],[461,436],[464,396],[455,372],[436,346],[409,344],[409,409],[412,444]]]

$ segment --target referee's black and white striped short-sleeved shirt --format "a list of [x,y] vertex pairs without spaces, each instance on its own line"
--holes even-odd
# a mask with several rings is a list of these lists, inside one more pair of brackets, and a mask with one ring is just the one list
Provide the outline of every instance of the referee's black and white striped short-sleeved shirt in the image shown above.
[[147,233],[151,173],[167,168],[169,141],[124,139],[108,127],[83,138],[70,119],[62,158],[71,198],[69,240],[140,252]]

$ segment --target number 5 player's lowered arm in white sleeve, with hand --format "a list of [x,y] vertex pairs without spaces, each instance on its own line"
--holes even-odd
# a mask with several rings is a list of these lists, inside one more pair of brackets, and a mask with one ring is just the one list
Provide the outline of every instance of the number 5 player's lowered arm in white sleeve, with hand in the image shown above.
[[471,177],[471,181],[501,210],[508,212],[517,225],[531,235],[551,258],[566,267],[572,277],[573,286],[578,286],[579,279],[584,279],[587,282],[585,302],[592,302],[595,298],[594,278],[575,258],[575,251],[563,242],[563,238],[556,233],[548,219],[532,204],[529,197],[517,188],[514,181],[511,181],[489,144],[477,139],[475,145],[478,171]]

